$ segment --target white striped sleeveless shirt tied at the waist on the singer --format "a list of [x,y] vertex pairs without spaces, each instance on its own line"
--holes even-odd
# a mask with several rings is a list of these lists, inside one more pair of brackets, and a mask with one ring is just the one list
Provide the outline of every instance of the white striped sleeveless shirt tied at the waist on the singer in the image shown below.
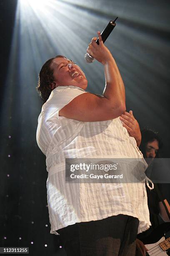
[[[79,222],[124,214],[140,220],[138,233],[149,228],[145,183],[66,183],[65,158],[131,158],[147,164],[119,118],[82,122],[59,116],[79,87],[52,90],[38,118],[37,144],[46,156],[50,233]],[[130,167],[129,167],[130,168]]]

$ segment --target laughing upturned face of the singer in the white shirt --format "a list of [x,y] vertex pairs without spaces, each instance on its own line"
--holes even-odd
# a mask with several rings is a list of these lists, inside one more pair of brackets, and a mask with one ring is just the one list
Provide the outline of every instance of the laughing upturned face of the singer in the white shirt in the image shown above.
[[51,68],[54,69],[55,87],[72,85],[84,90],[87,88],[85,74],[74,62],[64,58],[56,58],[52,61]]

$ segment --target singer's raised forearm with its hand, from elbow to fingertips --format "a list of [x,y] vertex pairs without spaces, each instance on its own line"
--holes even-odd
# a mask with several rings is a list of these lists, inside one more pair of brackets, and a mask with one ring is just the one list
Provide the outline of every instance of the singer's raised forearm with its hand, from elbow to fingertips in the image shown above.
[[116,110],[121,115],[125,112],[125,87],[112,54],[103,44],[100,32],[98,31],[97,33],[99,45],[96,44],[97,38],[92,38],[92,42],[87,48],[87,53],[104,66],[106,86],[103,92],[103,100],[105,108],[107,110],[113,110],[113,112]]

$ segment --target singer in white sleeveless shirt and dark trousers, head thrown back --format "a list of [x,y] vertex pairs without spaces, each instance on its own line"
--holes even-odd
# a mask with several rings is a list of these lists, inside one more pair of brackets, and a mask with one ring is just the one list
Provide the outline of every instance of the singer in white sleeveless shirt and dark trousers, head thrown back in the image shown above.
[[40,71],[37,144],[46,156],[50,233],[60,234],[67,256],[133,256],[137,233],[151,225],[145,183],[65,182],[65,158],[136,158],[147,167],[139,128],[130,137],[120,121],[125,87],[100,32],[98,37],[87,53],[103,65],[103,95],[87,92],[82,69],[64,56],[49,59]]

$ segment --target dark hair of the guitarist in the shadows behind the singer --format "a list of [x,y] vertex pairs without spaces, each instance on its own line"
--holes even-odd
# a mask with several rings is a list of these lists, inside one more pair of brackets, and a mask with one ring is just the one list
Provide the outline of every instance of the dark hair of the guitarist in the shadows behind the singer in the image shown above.
[[162,143],[162,140],[160,139],[160,137],[158,135],[158,132],[152,131],[151,129],[148,128],[148,129],[143,129],[141,131],[141,135],[142,135],[142,140],[141,140],[139,148],[140,148],[140,151],[142,152],[144,158],[146,158],[147,143],[155,141],[155,140],[157,140],[158,144],[159,144],[159,150],[156,153],[155,157],[156,158],[160,157],[160,149],[162,148],[163,143]]

